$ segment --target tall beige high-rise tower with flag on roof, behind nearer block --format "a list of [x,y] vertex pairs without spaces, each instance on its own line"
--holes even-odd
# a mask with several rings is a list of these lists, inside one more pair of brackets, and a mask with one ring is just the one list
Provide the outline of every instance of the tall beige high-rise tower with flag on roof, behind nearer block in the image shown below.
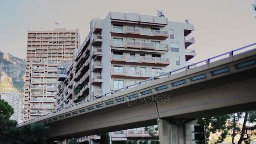
[[80,45],[79,30],[28,31],[24,120],[53,111],[57,67],[71,61]]

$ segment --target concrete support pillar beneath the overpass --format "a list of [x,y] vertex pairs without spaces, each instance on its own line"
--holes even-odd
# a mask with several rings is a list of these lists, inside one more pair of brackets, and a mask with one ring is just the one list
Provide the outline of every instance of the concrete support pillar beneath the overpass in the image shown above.
[[189,122],[168,121],[158,119],[158,131],[160,144],[192,144],[191,126],[197,125],[196,120]]

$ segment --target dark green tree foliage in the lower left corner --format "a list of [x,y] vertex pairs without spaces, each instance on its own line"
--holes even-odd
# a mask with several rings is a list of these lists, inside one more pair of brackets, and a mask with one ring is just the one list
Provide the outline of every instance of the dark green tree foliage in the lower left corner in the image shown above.
[[0,144],[51,144],[48,127],[43,123],[33,123],[17,128],[16,120],[9,120],[13,108],[0,100]]

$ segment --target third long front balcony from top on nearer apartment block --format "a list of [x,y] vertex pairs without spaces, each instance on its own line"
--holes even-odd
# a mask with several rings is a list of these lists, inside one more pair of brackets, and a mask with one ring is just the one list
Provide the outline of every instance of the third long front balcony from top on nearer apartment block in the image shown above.
[[168,66],[169,58],[146,57],[146,56],[128,56],[128,55],[111,55],[110,61],[113,64],[139,64],[139,65],[155,65]]

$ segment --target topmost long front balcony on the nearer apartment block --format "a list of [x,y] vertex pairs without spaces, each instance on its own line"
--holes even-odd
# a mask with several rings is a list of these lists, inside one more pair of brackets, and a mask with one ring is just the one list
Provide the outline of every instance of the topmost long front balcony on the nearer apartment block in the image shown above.
[[133,27],[115,27],[110,29],[112,36],[120,37],[136,37],[147,38],[156,40],[166,40],[169,37],[168,31],[153,30],[153,29],[140,29]]

